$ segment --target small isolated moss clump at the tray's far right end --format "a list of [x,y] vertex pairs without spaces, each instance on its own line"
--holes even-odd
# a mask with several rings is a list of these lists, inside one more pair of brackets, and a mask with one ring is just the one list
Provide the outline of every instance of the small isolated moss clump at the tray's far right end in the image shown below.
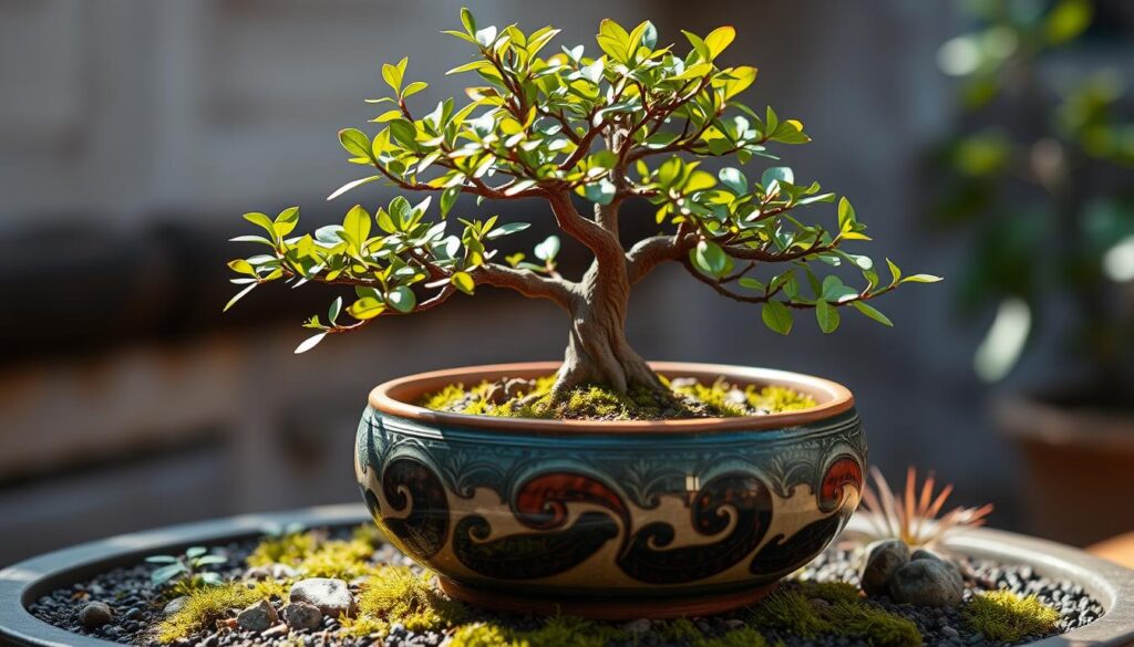
[[1023,597],[1010,590],[978,594],[965,604],[962,613],[970,629],[999,642],[1052,633],[1059,622],[1059,612],[1034,595]]

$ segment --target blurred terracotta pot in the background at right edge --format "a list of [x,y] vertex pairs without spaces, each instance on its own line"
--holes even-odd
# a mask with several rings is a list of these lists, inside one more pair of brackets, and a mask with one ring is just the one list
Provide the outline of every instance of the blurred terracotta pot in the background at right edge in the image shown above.
[[1039,534],[1083,546],[1134,529],[1134,416],[1021,395],[995,415],[1024,458]]

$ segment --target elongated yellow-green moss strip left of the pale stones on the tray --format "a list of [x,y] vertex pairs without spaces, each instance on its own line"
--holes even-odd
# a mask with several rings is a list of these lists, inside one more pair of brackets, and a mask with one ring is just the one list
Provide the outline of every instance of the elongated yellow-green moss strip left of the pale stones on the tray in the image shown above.
[[284,599],[287,594],[288,585],[274,580],[232,581],[195,590],[180,611],[158,624],[155,638],[159,642],[188,638],[223,620],[234,608],[244,608],[261,599]]

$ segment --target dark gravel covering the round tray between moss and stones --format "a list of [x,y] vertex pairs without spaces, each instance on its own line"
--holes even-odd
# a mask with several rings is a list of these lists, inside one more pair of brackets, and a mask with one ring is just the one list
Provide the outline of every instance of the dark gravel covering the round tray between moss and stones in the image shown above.
[[[345,533],[345,530],[344,530]],[[339,533],[332,533],[338,535]],[[226,563],[215,568],[226,578],[239,577],[244,571],[244,560],[255,547],[255,540],[231,543],[213,546],[212,552],[226,557]],[[832,548],[820,555],[810,565],[796,573],[796,578],[814,581],[847,581],[857,585],[856,564],[861,559],[862,548]],[[405,555],[391,546],[383,546],[375,560],[380,563],[409,563]],[[41,597],[29,607],[36,618],[68,631],[101,638],[103,640],[125,645],[154,645],[151,638],[153,627],[164,618],[163,606],[168,596],[155,590],[150,584],[150,572],[153,565],[141,563],[128,568],[119,568],[99,574],[90,580],[70,587],[57,589]],[[997,564],[980,560],[963,560],[962,570],[966,581],[966,599],[979,591],[1008,589],[1022,595],[1036,595],[1041,602],[1059,611],[1060,632],[1082,627],[1102,616],[1102,605],[1090,597],[1082,586],[1065,580],[1051,580],[1039,576],[1031,567],[1015,564]],[[792,586],[790,584],[785,586]],[[958,608],[930,608],[905,604],[896,604],[886,596],[870,598],[872,604],[886,611],[906,618],[914,622],[922,632],[926,647],[983,647],[999,645],[984,639],[980,633],[965,629],[965,622]],[[113,620],[98,629],[85,629],[79,621],[79,611],[91,602],[104,602],[113,610]],[[531,616],[499,615],[491,612],[477,612],[482,620],[502,622],[518,629],[535,628],[538,619]],[[694,623],[705,636],[719,636],[730,629],[744,625],[737,614],[723,614],[712,618],[694,619]],[[624,623],[641,630],[635,639],[625,647],[665,647],[669,645],[658,632],[650,629],[649,621],[640,620]],[[323,625],[312,631],[291,631],[277,636],[263,636],[244,632],[230,628],[218,628],[215,631],[183,641],[178,647],[202,645],[220,647],[223,645],[276,645],[294,646],[428,646],[438,647],[447,636],[441,632],[407,631],[404,627],[393,625],[389,636],[382,640],[363,638],[347,640],[336,635],[339,628],[335,619],[324,619]],[[769,645],[782,640],[786,647],[849,647],[861,645],[846,637],[818,637],[803,639],[796,636],[780,635],[773,630],[761,629]],[[1030,637],[1023,642],[1043,638]],[[535,646],[533,646],[535,647]],[[611,647],[624,647],[613,645]],[[674,647],[685,647],[677,644]]]

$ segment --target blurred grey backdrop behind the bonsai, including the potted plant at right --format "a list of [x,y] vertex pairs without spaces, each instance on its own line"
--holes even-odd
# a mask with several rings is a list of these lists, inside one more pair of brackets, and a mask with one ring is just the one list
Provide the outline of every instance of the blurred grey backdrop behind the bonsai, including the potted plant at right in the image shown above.
[[[843,382],[891,483],[933,470],[955,503],[995,503],[993,526],[1077,544],[1134,529],[1134,6],[465,3],[589,51],[604,17],[683,43],[735,25],[725,62],[761,69],[748,103],[814,139],[785,162],[854,199],[875,254],[948,279],[880,304],[892,330],[848,316],[785,339],[675,265],[634,296],[640,352]],[[459,6],[0,0],[0,564],[355,501],[373,385],[561,356],[559,310],[502,291],[303,356],[324,290],[257,291],[221,316],[242,213],[295,204],[314,227],[349,206],[323,199],[355,177],[336,131],[376,114],[381,62],[409,56],[422,105],[460,92],[443,73],[468,52],[438,34]],[[384,204],[375,187],[352,199]],[[535,203],[462,206],[534,222],[517,249],[550,232]],[[652,232],[648,208],[637,220]],[[565,248],[565,266],[584,261]]]

